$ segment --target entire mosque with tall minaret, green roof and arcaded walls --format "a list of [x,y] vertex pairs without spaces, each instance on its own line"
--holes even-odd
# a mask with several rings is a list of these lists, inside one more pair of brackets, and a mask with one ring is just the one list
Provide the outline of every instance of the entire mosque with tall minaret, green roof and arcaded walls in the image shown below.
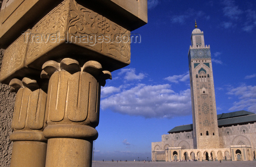
[[196,23],[188,60],[193,124],[176,126],[151,143],[152,161],[255,160],[256,114],[217,115],[210,45]]

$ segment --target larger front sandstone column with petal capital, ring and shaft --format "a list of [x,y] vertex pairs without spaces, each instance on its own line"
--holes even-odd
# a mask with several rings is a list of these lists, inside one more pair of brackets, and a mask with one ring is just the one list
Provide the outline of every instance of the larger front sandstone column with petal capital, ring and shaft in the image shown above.
[[42,78],[50,78],[44,136],[48,138],[46,167],[90,167],[92,143],[97,139],[101,86],[111,79],[97,61],[81,67],[74,59],[47,61]]

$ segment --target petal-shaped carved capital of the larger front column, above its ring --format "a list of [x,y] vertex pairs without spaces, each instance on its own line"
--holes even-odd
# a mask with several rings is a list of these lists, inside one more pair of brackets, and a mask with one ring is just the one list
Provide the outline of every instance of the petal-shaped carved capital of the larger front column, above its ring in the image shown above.
[[[42,66],[42,78],[49,78],[46,112],[47,124],[80,124],[91,127],[99,123],[99,100],[109,71],[103,71],[97,61],[80,65],[77,60],[65,58],[47,61]],[[75,138],[75,136],[74,136]]]

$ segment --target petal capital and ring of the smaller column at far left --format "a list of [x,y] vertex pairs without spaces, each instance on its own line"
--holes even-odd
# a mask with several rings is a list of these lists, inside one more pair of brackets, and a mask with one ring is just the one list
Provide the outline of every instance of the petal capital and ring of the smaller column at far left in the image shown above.
[[11,90],[17,91],[12,120],[12,141],[46,140],[42,130],[46,126],[45,104],[47,94],[39,88],[37,81],[23,78],[10,81]]

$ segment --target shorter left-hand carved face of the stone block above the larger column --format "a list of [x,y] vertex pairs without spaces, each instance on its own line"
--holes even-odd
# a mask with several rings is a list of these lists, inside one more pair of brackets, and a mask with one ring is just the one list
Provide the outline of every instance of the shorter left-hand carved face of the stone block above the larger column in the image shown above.
[[30,64],[64,42],[66,20],[68,18],[68,1],[65,0],[50,11],[31,29],[26,41],[29,48],[26,56],[26,64]]

